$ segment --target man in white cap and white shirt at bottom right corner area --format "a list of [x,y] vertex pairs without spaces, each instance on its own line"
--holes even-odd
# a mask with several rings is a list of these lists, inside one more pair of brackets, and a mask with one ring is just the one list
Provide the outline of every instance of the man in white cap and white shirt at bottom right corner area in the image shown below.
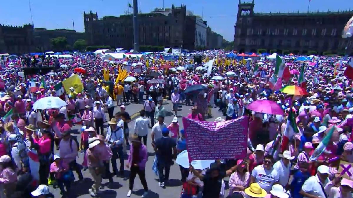
[[325,192],[324,187],[330,182],[329,177],[330,169],[328,166],[321,165],[317,168],[315,176],[307,179],[301,187],[300,194],[304,198],[322,197],[327,198],[328,193]]

